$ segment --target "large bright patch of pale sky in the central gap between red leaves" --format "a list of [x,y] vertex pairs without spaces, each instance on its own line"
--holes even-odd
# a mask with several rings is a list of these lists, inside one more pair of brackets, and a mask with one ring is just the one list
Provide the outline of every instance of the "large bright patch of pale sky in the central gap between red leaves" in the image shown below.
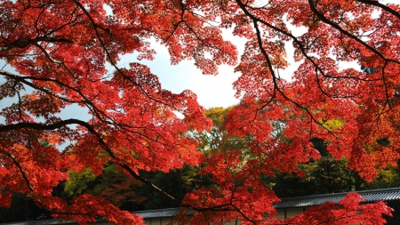
[[[243,53],[244,39],[231,35],[227,39],[239,46],[239,55]],[[234,97],[235,91],[232,88],[232,83],[240,76],[234,73],[235,67],[222,65],[217,76],[205,76],[196,68],[193,60],[184,60],[172,66],[170,55],[164,45],[152,41],[151,47],[156,50],[155,60],[139,62],[147,65],[151,72],[158,76],[164,89],[174,93],[184,90],[195,92],[198,102],[204,108],[228,107],[239,102]],[[138,61],[136,55],[124,55],[118,65],[127,66],[129,64],[127,62],[132,61]]]

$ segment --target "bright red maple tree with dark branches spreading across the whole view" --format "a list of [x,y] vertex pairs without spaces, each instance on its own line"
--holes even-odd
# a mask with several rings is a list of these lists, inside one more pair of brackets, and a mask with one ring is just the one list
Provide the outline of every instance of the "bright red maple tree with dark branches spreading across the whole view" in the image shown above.
[[[140,224],[139,216],[121,212],[103,197],[83,194],[66,202],[52,195],[52,188],[68,180],[68,171],[90,168],[99,175],[112,163],[195,209],[192,223],[290,223],[274,218],[278,198],[260,176],[301,175],[298,163],[320,157],[311,139],[324,140],[332,157],[347,157],[348,167],[366,181],[400,157],[398,4],[4,0],[0,15],[0,58],[12,68],[0,70],[0,100],[14,100],[0,112],[0,206],[11,204],[12,193],[25,193],[54,217],[84,224],[100,215]],[[307,31],[293,35],[289,25]],[[223,28],[247,39],[240,60],[236,46],[221,36]],[[117,66],[121,55],[132,52],[151,60],[150,37],[168,48],[172,64],[194,60],[204,74],[215,75],[218,65],[238,61],[241,76],[234,87],[242,102],[228,113],[226,128],[231,136],[252,136],[249,156],[241,157],[242,149],[204,156],[187,135],[212,126],[196,95],[162,89],[157,76],[138,62]],[[301,63],[292,81],[279,76],[289,64],[285,43],[292,44],[294,60]],[[340,61],[353,61],[368,73],[340,69]],[[27,87],[33,91],[22,94]],[[60,118],[71,105],[86,108],[92,119]],[[273,121],[284,124],[286,141],[274,135]],[[65,149],[55,147],[66,142]],[[197,189],[179,202],[139,173],[185,164],[203,165],[201,174],[212,176],[218,187]],[[358,206],[359,199],[350,195],[342,208],[321,205],[292,220],[309,221],[329,210],[337,221],[345,215],[351,222],[382,224],[380,214],[390,213],[382,203]]]

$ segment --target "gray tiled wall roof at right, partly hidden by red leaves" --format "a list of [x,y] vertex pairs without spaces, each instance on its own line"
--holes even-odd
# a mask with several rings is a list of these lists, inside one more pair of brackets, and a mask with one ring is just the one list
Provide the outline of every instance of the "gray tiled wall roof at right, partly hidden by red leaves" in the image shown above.
[[[394,189],[372,189],[356,191],[364,197],[364,203],[385,201],[385,202],[396,202],[400,201],[400,188]],[[325,194],[308,197],[286,197],[282,198],[279,203],[274,205],[276,209],[279,208],[300,208],[309,207],[314,205],[321,205],[328,201],[339,203],[339,201],[345,197],[349,192],[336,193],[336,194]]]

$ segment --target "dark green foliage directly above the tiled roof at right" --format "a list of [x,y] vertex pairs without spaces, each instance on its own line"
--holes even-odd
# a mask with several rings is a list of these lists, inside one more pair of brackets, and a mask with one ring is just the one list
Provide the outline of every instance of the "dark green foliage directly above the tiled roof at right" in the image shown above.
[[[334,159],[326,151],[326,142],[312,138],[311,143],[321,154],[318,160],[299,164],[304,176],[295,173],[276,173],[276,177],[263,177],[267,187],[276,191],[278,197],[300,197],[308,195],[348,192],[364,189],[386,189],[400,187],[400,168],[388,165],[379,169],[379,175],[372,182],[364,181],[348,169],[346,158]],[[377,141],[385,145],[385,140]]]

